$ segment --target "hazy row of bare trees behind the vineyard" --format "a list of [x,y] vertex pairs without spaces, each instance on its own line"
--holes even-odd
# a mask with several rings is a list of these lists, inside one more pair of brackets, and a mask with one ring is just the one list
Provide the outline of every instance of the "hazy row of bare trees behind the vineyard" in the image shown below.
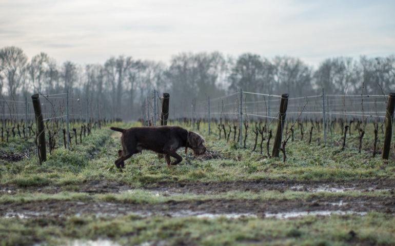
[[320,94],[322,88],[326,94],[388,94],[395,90],[395,55],[327,58],[313,68],[289,56],[269,59],[252,53],[226,57],[220,52],[183,52],[172,56],[168,64],[120,55],[104,64],[83,66],[73,61],[58,64],[44,52],[29,59],[14,46],[0,50],[3,99],[69,91],[81,100],[100,101],[106,118],[141,117],[153,89],[170,93],[170,104],[189,105],[192,98],[214,98],[239,88],[292,97]]

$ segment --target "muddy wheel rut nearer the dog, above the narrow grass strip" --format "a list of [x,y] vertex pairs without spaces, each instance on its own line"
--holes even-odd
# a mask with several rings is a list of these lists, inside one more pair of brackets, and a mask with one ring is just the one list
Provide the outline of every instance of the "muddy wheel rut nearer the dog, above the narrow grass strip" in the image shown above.
[[[150,191],[169,192],[169,193],[192,193],[192,194],[218,194],[228,191],[250,191],[261,192],[265,190],[293,190],[306,192],[343,192],[347,190],[372,191],[389,190],[394,192],[394,179],[374,179],[374,180],[334,180],[334,181],[298,181],[298,180],[241,180],[241,181],[222,181],[222,182],[159,182],[152,186],[131,187],[124,183],[107,180],[90,180],[77,187],[73,187],[74,192],[86,193],[119,193],[130,189],[146,189]],[[57,193],[67,190],[68,187],[46,186],[18,188],[16,186],[5,186],[0,190],[2,194],[14,194],[17,192],[42,192]]]

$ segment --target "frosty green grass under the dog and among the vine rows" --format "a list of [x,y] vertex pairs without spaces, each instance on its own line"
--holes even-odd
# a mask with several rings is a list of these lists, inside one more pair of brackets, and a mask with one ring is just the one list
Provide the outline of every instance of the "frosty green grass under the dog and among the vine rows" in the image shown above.
[[[346,150],[330,142],[341,140],[340,133],[333,133],[332,140],[324,145],[322,136],[313,135],[311,144],[305,140],[288,141],[287,159],[268,158],[259,151],[251,152],[253,136],[249,133],[248,148],[244,149],[232,141],[218,138],[218,133],[207,135],[207,126],[201,124],[200,133],[206,139],[207,149],[214,152],[216,159],[201,159],[189,156],[181,164],[168,169],[163,159],[144,151],[128,159],[123,173],[113,165],[116,151],[121,148],[117,132],[106,127],[94,130],[84,140],[84,145],[72,145],[70,150],[58,148],[43,165],[32,155],[19,162],[3,160],[0,165],[1,185],[15,184],[19,187],[65,185],[87,179],[107,179],[139,187],[161,181],[227,181],[241,179],[295,179],[295,180],[352,180],[395,178],[395,161],[379,156],[373,158],[369,143],[372,134],[366,134],[365,147],[358,153],[358,135],[348,137]],[[126,124],[121,125],[125,127]],[[368,126],[367,128],[370,128]],[[368,131],[368,130],[366,130]],[[244,132],[243,132],[244,133]],[[299,138],[295,131],[295,138]],[[336,140],[338,139],[338,140]],[[340,139],[340,140],[339,140]],[[382,134],[379,135],[382,139]],[[378,146],[381,146],[379,141]],[[13,145],[11,145],[13,146]],[[11,148],[10,146],[8,148]],[[15,147],[12,147],[15,148]],[[271,149],[271,148],[270,148]],[[18,151],[15,149],[15,151]],[[180,154],[185,156],[183,150]]]

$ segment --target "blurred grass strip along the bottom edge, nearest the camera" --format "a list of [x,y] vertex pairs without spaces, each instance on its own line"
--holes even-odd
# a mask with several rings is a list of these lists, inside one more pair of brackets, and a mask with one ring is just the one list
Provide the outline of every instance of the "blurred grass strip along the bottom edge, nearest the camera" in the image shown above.
[[393,245],[395,218],[370,212],[366,216],[304,216],[298,219],[241,217],[39,217],[0,218],[0,245],[58,245],[73,239],[102,238],[123,245]]

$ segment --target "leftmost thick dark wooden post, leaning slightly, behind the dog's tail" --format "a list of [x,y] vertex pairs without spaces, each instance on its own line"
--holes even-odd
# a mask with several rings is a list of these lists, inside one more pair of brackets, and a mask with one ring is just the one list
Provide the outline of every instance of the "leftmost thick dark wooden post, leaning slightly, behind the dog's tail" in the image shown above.
[[[39,146],[39,160],[46,161],[47,160],[47,151],[45,145],[45,128],[44,128],[44,120],[43,114],[41,112],[41,104],[38,94],[34,94],[31,96],[33,101],[34,114],[37,125],[37,135],[38,135],[38,146]],[[41,163],[41,162],[40,162]]]

